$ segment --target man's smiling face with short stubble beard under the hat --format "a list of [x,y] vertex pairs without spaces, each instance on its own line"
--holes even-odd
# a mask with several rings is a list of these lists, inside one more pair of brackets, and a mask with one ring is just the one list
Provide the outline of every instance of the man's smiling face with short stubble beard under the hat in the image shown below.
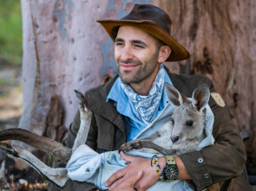
[[[115,38],[115,62],[121,80],[138,83],[157,74],[159,47],[152,35],[123,26]],[[153,76],[154,75],[154,76]]]

